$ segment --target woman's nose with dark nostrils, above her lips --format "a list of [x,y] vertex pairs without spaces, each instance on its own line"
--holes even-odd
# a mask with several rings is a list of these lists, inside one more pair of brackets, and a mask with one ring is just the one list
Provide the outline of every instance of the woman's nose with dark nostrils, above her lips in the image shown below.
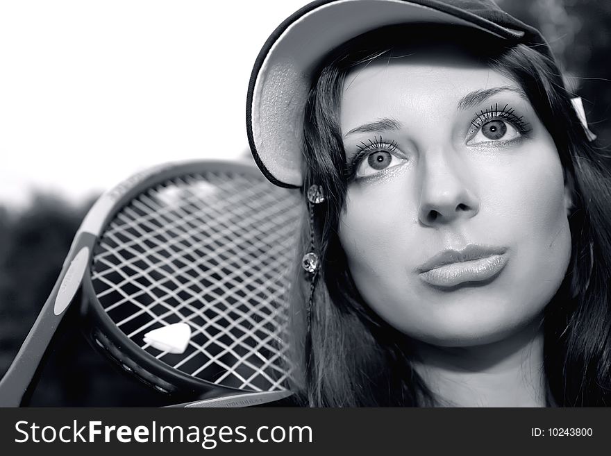
[[466,164],[448,153],[426,154],[421,169],[418,217],[425,226],[474,217],[480,202]]

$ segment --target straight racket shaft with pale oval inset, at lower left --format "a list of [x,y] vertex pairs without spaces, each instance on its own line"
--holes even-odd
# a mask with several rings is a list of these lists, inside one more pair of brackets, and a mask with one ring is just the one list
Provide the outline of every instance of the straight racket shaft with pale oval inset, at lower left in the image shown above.
[[35,386],[35,375],[47,353],[60,321],[81,288],[90,265],[96,237],[78,233],[64,261],[62,271],[47,302],[44,303],[19,353],[0,380],[0,407],[19,407]]

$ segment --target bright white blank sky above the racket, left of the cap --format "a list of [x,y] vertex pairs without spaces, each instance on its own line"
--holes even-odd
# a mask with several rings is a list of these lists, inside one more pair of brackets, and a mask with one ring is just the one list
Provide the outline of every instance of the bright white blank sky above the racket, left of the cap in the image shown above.
[[308,0],[0,2],[0,204],[237,158],[258,51]]

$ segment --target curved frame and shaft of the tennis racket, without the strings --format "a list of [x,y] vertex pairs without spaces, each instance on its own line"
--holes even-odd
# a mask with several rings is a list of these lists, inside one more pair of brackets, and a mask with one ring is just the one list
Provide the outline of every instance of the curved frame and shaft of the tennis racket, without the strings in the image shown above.
[[[215,403],[215,400],[219,400],[219,404],[221,404],[222,398],[225,397],[236,398],[243,394],[252,395],[256,393],[256,391],[226,387],[196,378],[172,368],[144,351],[110,319],[96,297],[92,282],[91,269],[94,249],[104,229],[119,211],[135,197],[156,185],[173,178],[211,172],[234,172],[260,176],[256,167],[240,162],[221,160],[171,162],[134,174],[99,197],[90,211],[87,212],[83,223],[77,230],[49,298],[42,307],[15,360],[0,380],[0,407],[18,407],[24,403],[28,394],[31,394],[37,376],[40,374],[40,369],[42,369],[42,364],[44,364],[44,358],[47,357],[52,345],[51,339],[53,339],[60,321],[68,313],[68,310],[74,307],[75,301],[79,300],[81,322],[85,323],[81,329],[92,346],[114,361],[124,371],[158,391],[175,396],[176,400],[189,400],[189,403],[209,400],[210,404]],[[86,253],[83,253],[85,249],[87,249]],[[75,264],[76,257],[79,258],[77,266],[72,266]],[[83,257],[85,258],[83,259]],[[78,269],[76,271],[78,273],[71,276],[69,272],[81,268],[82,262],[85,262],[86,267]],[[78,282],[74,282],[75,280]],[[67,302],[60,303],[62,308],[61,312],[58,313],[56,312],[58,296],[61,300],[62,290],[67,288],[74,289],[74,293],[72,293],[72,296],[64,297]],[[143,365],[147,368],[142,367]],[[167,381],[168,378],[174,381],[169,382]],[[267,402],[265,397],[268,397],[269,400],[275,400],[276,397],[289,396],[290,391],[259,391],[258,394],[261,397],[258,403],[265,403]],[[256,397],[256,394],[253,397]],[[244,403],[248,403],[248,401]]]

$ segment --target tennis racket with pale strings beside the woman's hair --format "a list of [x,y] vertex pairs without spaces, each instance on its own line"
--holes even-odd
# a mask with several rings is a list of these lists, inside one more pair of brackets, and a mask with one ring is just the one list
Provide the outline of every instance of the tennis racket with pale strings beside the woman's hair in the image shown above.
[[[286,303],[302,211],[294,190],[229,162],[163,165],[110,189],[0,381],[0,406],[31,393],[71,306],[92,345],[181,407],[290,396]],[[171,328],[182,346],[156,340]]]

